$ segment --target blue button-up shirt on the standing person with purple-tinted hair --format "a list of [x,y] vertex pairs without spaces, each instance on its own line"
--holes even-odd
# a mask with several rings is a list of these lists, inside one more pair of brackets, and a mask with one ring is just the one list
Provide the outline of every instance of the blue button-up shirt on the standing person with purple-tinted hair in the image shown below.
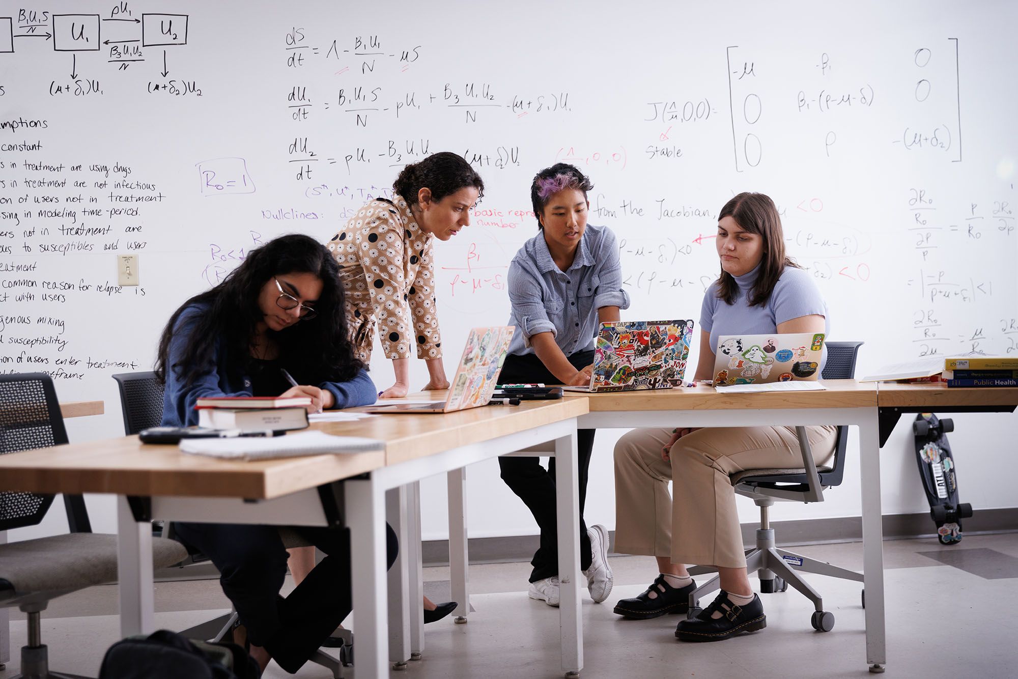
[[615,234],[587,225],[567,271],[552,260],[544,232],[523,243],[509,265],[509,323],[516,326],[509,353],[531,353],[530,337],[551,332],[567,356],[593,349],[602,306],[629,307]]

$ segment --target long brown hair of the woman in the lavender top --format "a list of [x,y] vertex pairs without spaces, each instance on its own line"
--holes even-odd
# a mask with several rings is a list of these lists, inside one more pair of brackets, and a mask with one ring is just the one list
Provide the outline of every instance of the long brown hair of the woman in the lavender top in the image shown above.
[[[718,221],[731,217],[743,231],[758,233],[764,239],[764,259],[760,261],[759,275],[749,291],[749,305],[762,306],[771,298],[785,267],[799,269],[791,258],[785,254],[785,233],[781,229],[781,216],[771,196],[764,193],[739,193],[725,204],[718,215]],[[739,284],[735,278],[721,270],[718,277],[718,298],[726,303],[735,302]]]

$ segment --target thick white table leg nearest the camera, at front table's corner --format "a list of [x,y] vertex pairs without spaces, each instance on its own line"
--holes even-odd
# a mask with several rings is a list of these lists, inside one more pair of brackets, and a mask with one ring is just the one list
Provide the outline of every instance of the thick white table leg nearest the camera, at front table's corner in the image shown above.
[[344,486],[350,528],[357,679],[382,679],[389,676],[385,494],[371,478],[350,479]]

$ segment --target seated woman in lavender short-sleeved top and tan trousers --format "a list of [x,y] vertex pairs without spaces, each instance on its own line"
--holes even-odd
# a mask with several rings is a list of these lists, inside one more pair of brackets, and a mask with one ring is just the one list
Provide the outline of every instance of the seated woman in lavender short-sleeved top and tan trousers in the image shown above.
[[[827,304],[812,277],[785,254],[770,197],[739,193],[725,204],[716,244],[721,274],[703,295],[696,380],[713,377],[722,335],[828,332]],[[805,429],[818,466],[834,454],[837,428]],[[615,613],[647,619],[686,612],[696,584],[685,564],[699,564],[717,567],[721,592],[695,618],[679,622],[679,639],[718,641],[766,627],[749,585],[729,474],[801,460],[794,427],[644,429],[619,439],[615,550],[657,557],[660,574],[643,593],[621,600]]]

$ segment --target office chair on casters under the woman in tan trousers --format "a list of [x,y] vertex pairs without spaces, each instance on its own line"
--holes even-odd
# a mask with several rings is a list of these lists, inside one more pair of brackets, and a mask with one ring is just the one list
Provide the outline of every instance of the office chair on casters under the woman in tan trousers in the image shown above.
[[[828,342],[827,362],[821,377],[825,380],[847,380],[855,377],[855,359],[862,342]],[[824,599],[803,580],[798,571],[818,573],[862,582],[862,573],[833,566],[824,561],[803,557],[775,547],[774,528],[771,527],[770,509],[780,502],[824,502],[824,491],[841,484],[845,472],[848,428],[838,428],[834,459],[830,466],[816,467],[806,441],[805,429],[796,428],[799,445],[803,450],[801,468],[747,469],[731,475],[735,492],[751,498],[760,508],[760,527],[756,530],[756,547],[746,552],[746,568],[756,571],[760,579],[760,592],[785,591],[788,585],[802,592],[813,603],[815,612],[810,624],[818,632],[834,629],[834,614],[824,610]],[[699,569],[696,569],[699,571]],[[692,569],[690,569],[692,572]],[[701,571],[699,571],[701,572]],[[689,596],[689,618],[699,613],[701,595],[718,588],[718,577],[696,587]],[[864,592],[863,592],[864,596]],[[864,600],[863,600],[864,601]]]

